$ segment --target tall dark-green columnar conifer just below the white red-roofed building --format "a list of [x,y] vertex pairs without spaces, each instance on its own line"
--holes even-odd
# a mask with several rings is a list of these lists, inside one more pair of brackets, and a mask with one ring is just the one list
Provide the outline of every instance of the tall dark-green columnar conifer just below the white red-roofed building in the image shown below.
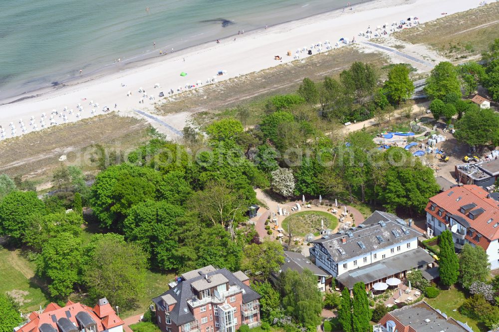
[[446,230],[439,235],[439,247],[440,281],[442,284],[449,287],[458,281],[459,276],[459,261],[456,250],[454,249],[451,231]]

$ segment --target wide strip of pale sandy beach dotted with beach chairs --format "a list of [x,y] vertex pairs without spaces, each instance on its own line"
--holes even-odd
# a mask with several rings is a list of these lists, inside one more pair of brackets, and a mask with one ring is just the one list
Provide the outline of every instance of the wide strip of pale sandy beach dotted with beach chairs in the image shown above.
[[[325,40],[329,40],[333,47],[342,37],[351,40],[355,36],[356,41],[366,40],[358,36],[358,33],[365,31],[369,25],[374,32],[377,25],[383,25],[385,22],[391,24],[409,16],[417,16],[420,23],[424,23],[441,17],[442,12],[452,14],[477,7],[479,2],[378,0],[356,5],[353,10],[336,10],[268,29],[245,31],[244,35],[237,35],[236,40],[231,37],[221,39],[220,43],[213,42],[189,48],[174,53],[174,57],[158,57],[120,72],[90,80],[87,78],[85,82],[48,90],[37,97],[10,104],[6,103],[12,99],[0,101],[0,104],[3,104],[0,106],[0,125],[8,139],[13,137],[10,122],[16,127],[14,136],[22,134],[20,119],[23,120],[26,133],[41,130],[41,114],[46,114],[44,122],[49,126],[49,117],[54,109],[58,114],[66,114],[67,122],[92,116],[92,109],[95,109],[95,115],[103,114],[104,106],[110,110],[119,110],[122,114],[133,113],[139,116],[134,110],[151,113],[154,103],[161,99],[158,96],[160,92],[168,96],[170,89],[177,91],[178,87],[182,87],[185,90],[186,85],[193,85],[198,81],[204,85],[207,79],[213,78],[220,70],[227,73],[217,76],[218,81],[293,61],[293,56],[286,55],[287,51],[294,54],[298,48],[309,48],[312,44],[324,43]],[[313,54],[316,53],[314,50]],[[281,56],[282,60],[274,60],[275,55]],[[306,56],[308,55],[302,54],[302,57]],[[187,76],[181,76],[181,72],[187,73]],[[161,88],[154,88],[155,84],[159,84]],[[148,98],[144,98],[144,103],[139,103],[143,95],[139,93],[140,88],[148,95]],[[131,96],[127,96],[129,91]],[[150,96],[155,99],[150,100]],[[98,106],[90,105],[90,101],[98,103]],[[81,104],[82,111],[77,109],[77,104]],[[68,111],[72,109],[72,114],[64,112],[64,107],[67,107]],[[36,129],[30,125],[33,116]],[[54,121],[58,124],[64,122],[59,116],[54,116]]]

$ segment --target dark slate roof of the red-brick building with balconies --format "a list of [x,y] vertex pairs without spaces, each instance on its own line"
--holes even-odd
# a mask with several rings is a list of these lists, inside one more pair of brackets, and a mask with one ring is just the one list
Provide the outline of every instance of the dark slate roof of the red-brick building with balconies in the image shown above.
[[[202,271],[202,272],[207,272],[207,273],[202,273],[201,275],[197,271]],[[208,270],[214,270],[212,272],[208,272]],[[195,272],[195,273],[193,273]],[[223,275],[229,283],[229,286],[232,285],[237,285],[243,290],[243,303],[248,303],[250,301],[254,301],[260,298],[260,295],[253,291],[249,286],[246,286],[241,280],[239,280],[232,272],[230,272],[227,269],[220,269],[216,270],[213,266],[209,265],[203,269],[198,269],[194,271],[190,271],[187,273],[184,273],[184,275],[194,275],[197,274],[198,276],[195,278],[191,279],[186,279],[184,281],[181,281],[178,283],[177,286],[174,288],[166,291],[165,293],[161,294],[160,296],[156,297],[153,299],[153,302],[158,305],[161,308],[163,307],[162,304],[162,297],[166,295],[172,296],[175,301],[177,301],[177,304],[173,308],[172,311],[170,311],[170,319],[172,320],[175,325],[179,326],[188,322],[192,322],[195,320],[194,316],[192,315],[191,311],[189,310],[189,305],[187,304],[187,300],[192,299],[193,297],[193,291],[192,291],[192,286],[191,284],[193,282],[196,282],[198,280],[201,280],[205,278],[205,274],[207,274],[209,277],[216,275],[216,274],[221,274]],[[186,310],[184,310],[186,309]]]

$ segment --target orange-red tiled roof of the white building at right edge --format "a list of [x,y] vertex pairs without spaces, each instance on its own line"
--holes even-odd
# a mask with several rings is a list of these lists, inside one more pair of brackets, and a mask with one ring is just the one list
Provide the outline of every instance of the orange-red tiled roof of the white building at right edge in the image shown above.
[[[450,194],[451,191],[453,192],[452,194]],[[482,187],[474,184],[457,186],[431,197],[425,210],[431,215],[439,218],[441,221],[445,220],[445,214],[456,214],[469,222],[470,226],[478,233],[482,234],[482,236],[490,241],[494,241],[499,239],[499,226],[494,227],[494,225],[499,222],[499,202],[492,198],[487,198],[488,194],[489,193]],[[461,197],[461,199],[458,201],[457,199],[459,197]],[[436,208],[435,211],[432,211],[430,209],[432,203],[435,203],[438,207],[443,208],[445,210],[445,214],[438,216],[438,208]],[[473,208],[473,210],[483,208],[485,212],[477,216],[475,219],[471,219],[468,214],[465,215],[461,213],[461,206],[470,203],[477,205]],[[493,219],[493,221],[488,222],[490,219]],[[467,239],[476,243],[476,241],[469,236],[467,236]],[[480,243],[477,244],[482,247],[484,245],[487,247],[488,243],[485,242],[486,241],[480,241]]]

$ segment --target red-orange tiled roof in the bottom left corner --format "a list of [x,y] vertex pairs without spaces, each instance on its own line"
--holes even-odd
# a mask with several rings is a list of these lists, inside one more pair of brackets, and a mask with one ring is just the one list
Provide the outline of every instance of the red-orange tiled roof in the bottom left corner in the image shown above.
[[[107,307],[107,306],[109,306],[109,308],[105,308],[105,310],[102,311],[102,307]],[[47,308],[45,308],[43,313],[39,314],[37,312],[32,312],[29,315],[30,322],[25,324],[18,331],[19,332],[38,332],[39,326],[42,324],[45,324],[45,323],[52,326],[56,331],[58,331],[57,325],[56,325],[56,323],[53,322],[52,317],[55,316],[56,320],[59,320],[62,317],[67,318],[68,315],[66,315],[66,311],[69,312],[69,314],[70,314],[69,320],[72,323],[77,323],[76,322],[76,314],[78,314],[79,312],[84,311],[84,312],[88,313],[90,315],[90,317],[97,324],[97,331],[98,332],[102,332],[104,330],[108,330],[108,329],[123,325],[124,324],[123,321],[118,316],[116,316],[116,314],[112,310],[112,307],[109,304],[107,304],[107,306],[101,306],[101,308],[100,308],[101,313],[100,314],[102,315],[103,312],[105,312],[106,314],[104,316],[98,317],[96,315],[97,313],[94,313],[92,308],[87,307],[85,305],[82,305],[80,303],[73,303],[71,301],[68,301],[66,306],[63,308],[59,307],[55,303],[50,303],[47,306]],[[96,306],[96,307],[98,307],[98,306]],[[107,310],[107,309],[110,309],[111,311],[109,312],[109,310]]]

